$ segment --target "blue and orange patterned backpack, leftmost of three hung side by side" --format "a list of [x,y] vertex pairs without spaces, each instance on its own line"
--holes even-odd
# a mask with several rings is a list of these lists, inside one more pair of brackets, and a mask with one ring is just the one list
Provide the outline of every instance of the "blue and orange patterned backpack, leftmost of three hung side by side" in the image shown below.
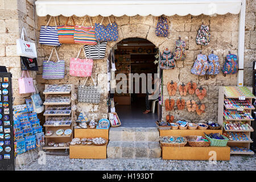
[[196,61],[191,69],[191,73],[198,76],[203,76],[207,72],[209,64],[206,55],[197,55]]

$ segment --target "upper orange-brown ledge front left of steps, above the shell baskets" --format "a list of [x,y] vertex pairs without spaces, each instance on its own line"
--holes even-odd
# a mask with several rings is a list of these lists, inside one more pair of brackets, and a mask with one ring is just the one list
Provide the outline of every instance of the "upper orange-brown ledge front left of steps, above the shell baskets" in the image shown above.
[[75,138],[102,137],[109,140],[109,129],[75,129]]

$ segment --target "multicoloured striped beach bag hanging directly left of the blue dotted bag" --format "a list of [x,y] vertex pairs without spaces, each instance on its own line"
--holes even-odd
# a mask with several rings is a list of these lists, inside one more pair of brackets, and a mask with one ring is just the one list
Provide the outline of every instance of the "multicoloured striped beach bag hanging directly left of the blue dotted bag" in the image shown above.
[[[86,16],[84,18],[84,21]],[[90,17],[89,17],[90,19]],[[76,25],[74,32],[74,40],[76,44],[84,44],[84,45],[96,45],[96,37],[95,37],[95,27],[92,26],[92,21],[90,20],[90,26],[84,27],[84,21],[82,21],[82,26]]]

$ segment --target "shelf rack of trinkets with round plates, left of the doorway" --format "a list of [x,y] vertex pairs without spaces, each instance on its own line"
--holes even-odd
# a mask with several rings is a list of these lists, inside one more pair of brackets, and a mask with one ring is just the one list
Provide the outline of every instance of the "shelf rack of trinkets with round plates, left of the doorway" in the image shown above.
[[44,105],[46,111],[44,116],[46,122],[46,146],[44,150],[50,149],[68,149],[73,138],[73,119],[75,111],[71,108],[75,105],[75,100],[72,99],[75,93],[75,86],[70,85],[46,85],[45,94],[46,100]]

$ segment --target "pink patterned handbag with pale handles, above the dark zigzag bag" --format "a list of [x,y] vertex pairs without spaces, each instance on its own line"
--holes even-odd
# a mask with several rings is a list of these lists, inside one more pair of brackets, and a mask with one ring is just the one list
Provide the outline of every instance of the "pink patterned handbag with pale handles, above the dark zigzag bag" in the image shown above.
[[88,77],[92,74],[93,60],[87,59],[85,51],[85,59],[79,59],[81,49],[84,51],[84,47],[81,47],[78,55],[70,59],[69,74],[71,76]]

